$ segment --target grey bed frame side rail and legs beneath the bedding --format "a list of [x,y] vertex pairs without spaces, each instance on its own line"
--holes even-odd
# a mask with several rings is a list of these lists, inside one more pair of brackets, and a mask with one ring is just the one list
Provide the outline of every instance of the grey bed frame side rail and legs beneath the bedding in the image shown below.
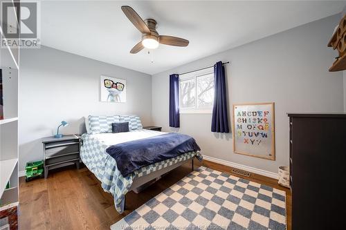
[[[164,169],[160,169],[160,170],[155,171],[153,173],[149,173],[147,175],[144,175],[143,177],[135,178],[134,182],[132,182],[132,185],[131,185],[129,191],[134,191],[135,193],[139,193],[140,191],[143,191],[143,189],[154,184],[154,182],[160,180],[165,174],[169,173],[173,169],[176,169],[177,167],[179,167],[179,166],[181,166],[181,165],[183,165],[189,161],[191,161],[191,169],[192,169],[192,171],[194,171],[194,157],[192,157],[188,160],[183,160],[183,161],[178,162],[176,164],[172,164],[171,166],[167,166]],[[122,199],[122,203],[121,203],[122,210],[125,210],[125,208],[126,208],[125,198],[126,198],[126,195],[124,196],[124,199]]]

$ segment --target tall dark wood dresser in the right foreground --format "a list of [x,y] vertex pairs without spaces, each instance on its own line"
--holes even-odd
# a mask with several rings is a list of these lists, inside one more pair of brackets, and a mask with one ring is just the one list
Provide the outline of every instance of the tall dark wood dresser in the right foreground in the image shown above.
[[345,229],[346,113],[289,114],[292,229]]

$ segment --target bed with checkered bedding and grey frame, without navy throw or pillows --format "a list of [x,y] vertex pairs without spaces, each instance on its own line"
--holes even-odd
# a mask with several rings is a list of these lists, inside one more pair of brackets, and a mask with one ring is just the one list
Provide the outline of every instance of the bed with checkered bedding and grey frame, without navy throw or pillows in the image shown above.
[[[91,122],[90,118],[89,122]],[[107,153],[109,146],[144,140],[163,134],[165,133],[143,129],[140,124],[137,128],[132,127],[131,131],[127,133],[89,132],[82,135],[81,160],[89,171],[100,180],[102,189],[113,195],[114,204],[119,213],[122,213],[125,209],[125,194],[127,192],[134,191],[138,193],[143,186],[158,180],[162,175],[181,166],[181,164],[185,164],[185,162],[191,161],[193,170],[194,157],[201,160],[202,157],[199,151],[190,151],[161,162],[143,166],[133,173],[123,176],[117,167],[116,160]]]

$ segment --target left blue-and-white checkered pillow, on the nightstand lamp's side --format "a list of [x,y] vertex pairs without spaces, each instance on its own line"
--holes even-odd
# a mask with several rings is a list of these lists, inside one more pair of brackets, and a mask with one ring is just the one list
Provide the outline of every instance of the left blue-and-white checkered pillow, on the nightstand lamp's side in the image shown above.
[[111,124],[120,122],[119,115],[113,116],[93,116],[89,115],[89,128],[91,134],[111,133]]

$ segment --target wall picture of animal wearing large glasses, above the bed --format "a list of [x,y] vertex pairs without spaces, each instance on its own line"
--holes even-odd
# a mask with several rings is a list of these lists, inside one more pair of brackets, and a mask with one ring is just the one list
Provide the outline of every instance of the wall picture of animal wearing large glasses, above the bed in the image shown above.
[[101,101],[126,102],[126,80],[101,76]]

